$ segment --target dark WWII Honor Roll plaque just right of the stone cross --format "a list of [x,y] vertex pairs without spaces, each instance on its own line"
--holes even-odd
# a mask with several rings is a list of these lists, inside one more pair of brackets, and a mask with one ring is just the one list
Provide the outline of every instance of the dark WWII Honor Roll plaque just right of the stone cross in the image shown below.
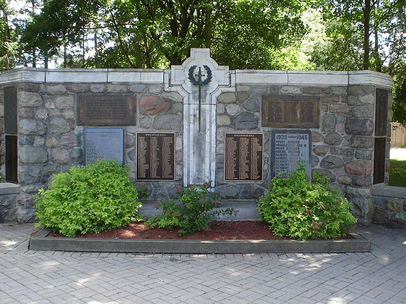
[[225,133],[224,149],[224,180],[262,181],[262,133]]

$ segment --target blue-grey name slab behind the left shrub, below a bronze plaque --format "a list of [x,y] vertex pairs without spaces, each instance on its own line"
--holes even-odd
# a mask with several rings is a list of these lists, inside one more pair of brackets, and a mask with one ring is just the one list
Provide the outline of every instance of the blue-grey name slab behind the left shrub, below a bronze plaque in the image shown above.
[[113,128],[85,129],[85,164],[99,159],[115,159],[124,164],[124,130]]

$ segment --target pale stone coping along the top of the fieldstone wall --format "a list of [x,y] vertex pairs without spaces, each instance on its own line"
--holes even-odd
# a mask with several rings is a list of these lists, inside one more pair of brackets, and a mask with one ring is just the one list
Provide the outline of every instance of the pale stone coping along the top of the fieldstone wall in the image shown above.
[[[43,69],[21,67],[0,73],[0,85],[18,82],[34,83],[149,83],[163,84],[163,69]],[[235,84],[361,86],[392,88],[388,74],[361,71],[293,71],[293,70],[230,70]]]

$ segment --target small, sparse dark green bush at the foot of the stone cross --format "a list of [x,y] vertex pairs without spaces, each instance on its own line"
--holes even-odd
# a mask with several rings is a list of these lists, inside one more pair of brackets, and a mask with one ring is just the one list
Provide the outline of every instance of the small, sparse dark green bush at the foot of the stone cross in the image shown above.
[[220,205],[220,200],[217,194],[209,194],[209,187],[209,183],[202,186],[178,187],[180,204],[173,200],[158,202],[159,207],[163,209],[162,214],[154,215],[146,224],[168,230],[178,228],[179,235],[182,236],[207,229],[214,215],[233,214],[233,208],[213,210]]

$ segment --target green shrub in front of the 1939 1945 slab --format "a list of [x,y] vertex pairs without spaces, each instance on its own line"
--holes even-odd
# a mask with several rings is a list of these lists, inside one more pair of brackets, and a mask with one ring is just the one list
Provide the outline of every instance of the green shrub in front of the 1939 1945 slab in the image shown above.
[[258,203],[260,219],[280,237],[306,240],[345,236],[356,218],[347,199],[336,189],[329,191],[328,186],[328,177],[318,172],[309,182],[306,169],[299,164],[289,177],[272,179]]

